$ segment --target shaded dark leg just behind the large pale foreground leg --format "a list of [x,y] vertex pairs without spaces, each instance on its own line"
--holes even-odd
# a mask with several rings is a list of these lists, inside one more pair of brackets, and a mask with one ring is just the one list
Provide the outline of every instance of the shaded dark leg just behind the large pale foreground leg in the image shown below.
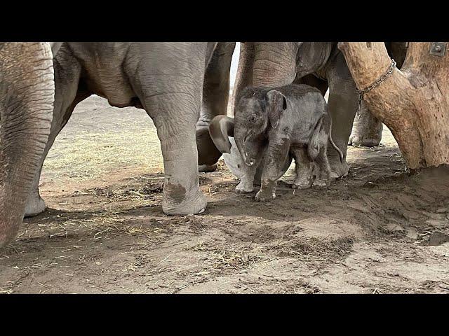
[[215,116],[226,116],[229,99],[229,72],[235,42],[219,42],[210,59],[203,83],[201,116],[196,123],[196,146],[200,172],[213,172],[222,155],[209,135],[209,123]]

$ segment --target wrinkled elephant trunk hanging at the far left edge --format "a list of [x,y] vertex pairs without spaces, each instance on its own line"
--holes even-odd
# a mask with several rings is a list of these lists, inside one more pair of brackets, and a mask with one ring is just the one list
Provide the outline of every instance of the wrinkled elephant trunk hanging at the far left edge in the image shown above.
[[50,43],[0,43],[0,247],[15,239],[53,118]]

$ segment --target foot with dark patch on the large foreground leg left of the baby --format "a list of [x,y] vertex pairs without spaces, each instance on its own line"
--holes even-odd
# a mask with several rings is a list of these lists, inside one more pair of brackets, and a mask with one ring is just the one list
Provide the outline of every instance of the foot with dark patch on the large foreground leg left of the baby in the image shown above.
[[162,200],[162,211],[164,214],[169,216],[201,214],[206,210],[207,204],[206,197],[199,189],[189,195],[185,193],[185,188],[180,185],[164,186]]

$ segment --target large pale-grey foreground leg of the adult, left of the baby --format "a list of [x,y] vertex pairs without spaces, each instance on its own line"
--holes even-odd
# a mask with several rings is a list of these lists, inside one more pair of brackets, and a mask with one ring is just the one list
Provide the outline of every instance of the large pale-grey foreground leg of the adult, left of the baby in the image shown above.
[[[206,198],[199,189],[195,135],[205,50],[202,43],[155,43],[149,45],[147,57],[157,62],[140,63],[140,101],[161,141],[165,171],[162,209],[168,215],[199,214],[206,209]],[[152,69],[152,64],[161,68]]]

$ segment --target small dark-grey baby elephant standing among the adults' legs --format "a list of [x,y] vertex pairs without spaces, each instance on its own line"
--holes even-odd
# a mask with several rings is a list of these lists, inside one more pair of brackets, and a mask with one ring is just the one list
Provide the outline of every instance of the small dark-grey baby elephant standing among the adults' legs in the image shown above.
[[[328,141],[339,153],[331,137],[332,120],[319,90],[309,85],[287,85],[276,89],[247,87],[234,112],[234,140],[243,162],[259,166],[264,158],[260,191],[255,200],[276,197],[276,181],[293,155],[296,179],[293,188],[328,186],[330,166]],[[314,165],[316,179],[314,178]]]

